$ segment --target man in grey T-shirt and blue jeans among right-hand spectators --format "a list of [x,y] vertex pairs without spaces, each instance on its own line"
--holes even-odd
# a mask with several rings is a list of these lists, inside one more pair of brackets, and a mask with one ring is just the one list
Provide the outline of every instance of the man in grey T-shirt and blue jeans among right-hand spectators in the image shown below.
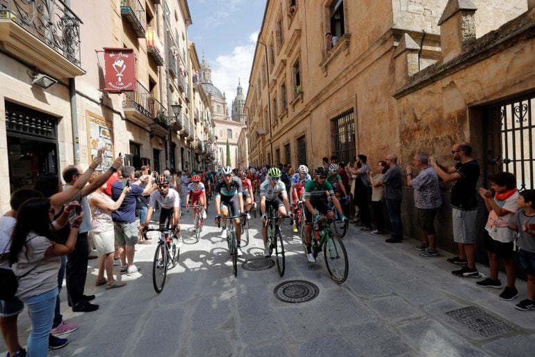
[[401,221],[402,191],[402,169],[397,164],[395,154],[386,155],[384,159],[388,164],[388,171],[383,175],[383,180],[377,184],[384,184],[386,191],[386,208],[394,233],[392,237],[386,239],[387,243],[400,243],[403,239],[403,227]]

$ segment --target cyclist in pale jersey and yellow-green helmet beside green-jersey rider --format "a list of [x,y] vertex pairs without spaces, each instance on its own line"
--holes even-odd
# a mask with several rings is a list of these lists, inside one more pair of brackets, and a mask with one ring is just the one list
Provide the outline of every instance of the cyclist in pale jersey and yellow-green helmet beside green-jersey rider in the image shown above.
[[[282,202],[279,198],[282,196]],[[281,181],[281,170],[277,167],[272,167],[268,171],[268,179],[260,184],[260,212],[262,214],[262,221],[268,220],[268,207],[271,206],[275,211],[279,212],[279,216],[286,216],[286,212],[290,211],[290,204],[288,203],[288,194],[286,187]],[[293,214],[290,213],[290,219],[293,219]],[[283,218],[279,219],[279,224],[282,224]],[[268,226],[262,225],[262,239],[264,241],[264,257],[270,257],[270,247],[266,245]]]

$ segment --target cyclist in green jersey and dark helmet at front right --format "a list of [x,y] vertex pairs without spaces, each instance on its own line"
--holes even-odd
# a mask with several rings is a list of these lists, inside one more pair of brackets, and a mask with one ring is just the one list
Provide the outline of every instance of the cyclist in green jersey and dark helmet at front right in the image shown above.
[[[314,219],[318,221],[323,216],[334,219],[334,212],[329,208],[327,204],[327,197],[331,197],[334,207],[340,213],[340,219],[347,221],[347,217],[344,216],[342,207],[338,203],[338,199],[334,195],[333,187],[327,182],[327,170],[323,167],[318,167],[314,171],[315,180],[306,182],[304,187],[304,215],[305,215],[305,242],[306,242],[306,257],[308,262],[315,262],[315,257],[312,254],[312,214],[318,209],[320,214],[315,214]],[[318,238],[316,238],[318,239]]]

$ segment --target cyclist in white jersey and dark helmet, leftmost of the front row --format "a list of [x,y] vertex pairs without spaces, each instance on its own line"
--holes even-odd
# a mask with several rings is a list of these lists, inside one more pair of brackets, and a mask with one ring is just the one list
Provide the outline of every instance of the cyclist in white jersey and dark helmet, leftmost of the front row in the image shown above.
[[159,225],[160,228],[172,226],[177,237],[179,237],[179,247],[182,246],[182,236],[180,234],[180,195],[175,189],[169,187],[169,177],[159,175],[156,179],[158,189],[151,193],[149,199],[149,209],[147,209],[147,218],[145,219],[145,227],[142,228],[146,232],[149,228],[149,223],[154,212],[154,205],[156,202],[161,207]]

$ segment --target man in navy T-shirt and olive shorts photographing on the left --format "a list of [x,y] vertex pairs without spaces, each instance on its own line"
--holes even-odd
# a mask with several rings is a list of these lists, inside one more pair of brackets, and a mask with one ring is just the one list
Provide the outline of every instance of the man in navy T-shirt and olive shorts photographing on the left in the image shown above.
[[[134,180],[133,166],[124,166],[122,170],[122,176],[126,178],[126,184],[130,184],[128,180]],[[152,180],[152,179],[150,179]],[[113,220],[113,228],[115,231],[115,244],[119,246],[119,256],[121,259],[121,273],[126,275],[132,275],[139,271],[138,267],[133,264],[135,254],[135,244],[138,243],[138,224],[135,221],[135,203],[137,197],[141,195],[147,195],[151,189],[152,182],[142,189],[136,184],[130,184],[131,191],[124,198],[122,205],[117,211],[111,212]],[[118,200],[123,191],[122,183],[117,180],[113,182],[111,188],[111,198]]]

